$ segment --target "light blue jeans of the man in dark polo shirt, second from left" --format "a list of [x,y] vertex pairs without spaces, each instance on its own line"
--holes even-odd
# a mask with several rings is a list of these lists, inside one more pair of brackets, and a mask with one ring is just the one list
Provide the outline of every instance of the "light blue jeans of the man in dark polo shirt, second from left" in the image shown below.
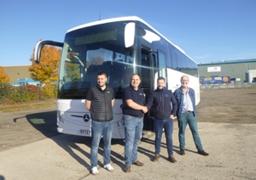
[[124,115],[125,121],[125,166],[137,161],[137,146],[143,135],[143,117]]

